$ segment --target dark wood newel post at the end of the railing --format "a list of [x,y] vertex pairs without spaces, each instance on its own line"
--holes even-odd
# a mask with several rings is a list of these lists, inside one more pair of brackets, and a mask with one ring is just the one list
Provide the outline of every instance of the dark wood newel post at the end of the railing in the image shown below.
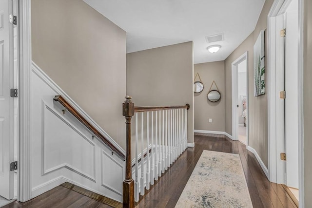
[[131,165],[131,118],[135,114],[135,104],[131,96],[125,96],[126,101],[122,104],[122,115],[126,119],[126,178],[122,183],[122,207],[135,207],[134,180],[132,179]]

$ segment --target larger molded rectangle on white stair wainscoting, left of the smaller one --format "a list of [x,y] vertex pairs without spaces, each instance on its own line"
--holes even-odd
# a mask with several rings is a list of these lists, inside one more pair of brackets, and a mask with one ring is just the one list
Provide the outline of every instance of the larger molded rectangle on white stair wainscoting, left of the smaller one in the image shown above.
[[42,175],[66,168],[95,179],[95,144],[42,101]]

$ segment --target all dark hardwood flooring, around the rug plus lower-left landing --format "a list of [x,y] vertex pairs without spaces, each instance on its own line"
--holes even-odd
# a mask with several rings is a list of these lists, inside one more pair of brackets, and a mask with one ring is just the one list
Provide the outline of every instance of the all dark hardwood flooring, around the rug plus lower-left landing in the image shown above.
[[[240,155],[254,208],[296,208],[281,185],[271,183],[254,154],[238,141],[220,135],[195,135],[195,148],[188,148],[144,197],[137,208],[174,208],[203,150]],[[25,202],[14,202],[4,208],[107,208],[109,206],[64,187],[56,187]]]

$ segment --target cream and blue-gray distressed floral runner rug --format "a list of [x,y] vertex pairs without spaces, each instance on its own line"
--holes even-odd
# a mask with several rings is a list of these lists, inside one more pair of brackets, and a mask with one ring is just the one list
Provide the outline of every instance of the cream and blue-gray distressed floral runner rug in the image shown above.
[[176,208],[253,208],[239,155],[203,151]]

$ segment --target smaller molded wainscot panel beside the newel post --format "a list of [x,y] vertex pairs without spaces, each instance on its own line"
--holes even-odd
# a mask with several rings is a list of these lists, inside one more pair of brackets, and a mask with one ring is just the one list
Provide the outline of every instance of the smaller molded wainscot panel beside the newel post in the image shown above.
[[[102,186],[122,195],[123,164],[102,151]],[[114,188],[115,187],[115,188]]]

